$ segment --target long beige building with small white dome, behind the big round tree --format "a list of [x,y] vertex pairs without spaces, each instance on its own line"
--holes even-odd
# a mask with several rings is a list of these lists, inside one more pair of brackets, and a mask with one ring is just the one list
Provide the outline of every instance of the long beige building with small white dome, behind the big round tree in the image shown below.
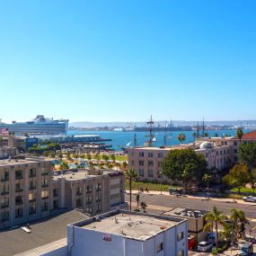
[[[169,181],[161,176],[163,158],[170,150],[192,148],[197,154],[203,154],[208,168],[223,170],[234,163],[233,147],[219,145],[213,141],[200,141],[194,144],[170,147],[133,147],[128,149],[128,168],[134,168],[141,180]],[[172,181],[169,181],[172,182]]]

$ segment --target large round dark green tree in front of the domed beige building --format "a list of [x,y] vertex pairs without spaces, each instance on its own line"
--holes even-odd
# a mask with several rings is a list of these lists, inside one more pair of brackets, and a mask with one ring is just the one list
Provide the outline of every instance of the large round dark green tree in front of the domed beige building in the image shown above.
[[202,154],[196,154],[191,148],[173,149],[163,159],[162,174],[173,181],[183,181],[187,189],[190,181],[201,182],[207,169],[207,162]]

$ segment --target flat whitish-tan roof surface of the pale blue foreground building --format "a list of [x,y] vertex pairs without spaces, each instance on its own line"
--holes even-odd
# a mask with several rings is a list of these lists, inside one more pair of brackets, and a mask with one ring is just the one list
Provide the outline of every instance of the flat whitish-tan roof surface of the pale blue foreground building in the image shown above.
[[103,218],[100,222],[84,225],[82,228],[106,234],[117,234],[129,239],[146,241],[175,226],[179,221],[162,219],[154,216],[139,216],[120,213]]

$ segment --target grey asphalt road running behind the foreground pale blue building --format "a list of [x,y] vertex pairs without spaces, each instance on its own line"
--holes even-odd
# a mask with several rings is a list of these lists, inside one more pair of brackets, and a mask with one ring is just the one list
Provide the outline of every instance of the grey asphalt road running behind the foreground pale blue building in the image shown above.
[[[129,201],[128,194],[126,195],[126,201]],[[136,201],[136,195],[132,196],[132,201]],[[189,199],[183,196],[177,198],[176,196],[150,195],[146,193],[140,194],[140,201],[144,201],[148,205],[160,207],[189,207],[197,210],[211,210],[213,206],[216,206],[227,216],[230,215],[230,209],[232,208],[242,209],[245,216],[251,219],[248,230],[252,229],[252,234],[256,235],[256,206],[213,200]]]

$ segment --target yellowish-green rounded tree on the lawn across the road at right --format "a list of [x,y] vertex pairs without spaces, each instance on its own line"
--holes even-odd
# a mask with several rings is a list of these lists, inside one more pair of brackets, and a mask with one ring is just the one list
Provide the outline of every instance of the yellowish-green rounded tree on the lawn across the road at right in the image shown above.
[[231,187],[240,190],[250,181],[248,167],[244,163],[236,163],[234,167],[225,175],[223,181]]

